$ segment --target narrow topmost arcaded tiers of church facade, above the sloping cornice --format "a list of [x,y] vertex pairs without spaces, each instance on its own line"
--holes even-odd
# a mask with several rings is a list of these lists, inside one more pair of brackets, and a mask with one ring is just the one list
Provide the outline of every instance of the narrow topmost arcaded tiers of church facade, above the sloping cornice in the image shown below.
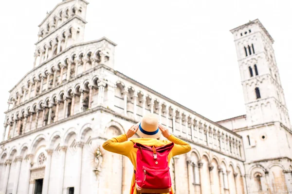
[[63,0],[38,25],[34,68],[71,45],[83,42],[87,23],[85,0]]

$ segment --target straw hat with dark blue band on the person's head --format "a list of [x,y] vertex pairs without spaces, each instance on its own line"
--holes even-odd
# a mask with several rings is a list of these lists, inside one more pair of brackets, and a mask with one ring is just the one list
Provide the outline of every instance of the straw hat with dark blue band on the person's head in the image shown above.
[[161,130],[158,129],[157,115],[153,113],[144,115],[139,124],[137,134],[142,138],[159,138],[161,136]]

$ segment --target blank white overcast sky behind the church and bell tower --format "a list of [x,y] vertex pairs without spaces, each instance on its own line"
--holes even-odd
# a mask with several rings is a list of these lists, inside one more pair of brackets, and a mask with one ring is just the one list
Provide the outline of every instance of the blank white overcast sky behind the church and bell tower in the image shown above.
[[[1,121],[8,91],[33,67],[37,25],[59,2],[1,2]],[[229,30],[258,18],[275,40],[276,61],[292,115],[290,0],[89,2],[85,41],[106,36],[118,44],[116,70],[214,121],[245,114]]]

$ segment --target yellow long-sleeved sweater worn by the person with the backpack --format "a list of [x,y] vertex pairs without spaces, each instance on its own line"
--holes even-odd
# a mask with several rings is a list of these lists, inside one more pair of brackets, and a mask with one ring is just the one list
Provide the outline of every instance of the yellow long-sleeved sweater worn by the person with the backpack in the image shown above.
[[[168,164],[172,157],[187,153],[191,150],[191,146],[189,144],[175,137],[174,135],[170,135],[168,140],[174,143],[174,147],[168,154]],[[160,147],[160,146],[169,144],[170,143],[169,141],[157,140],[153,138],[137,138],[137,139],[131,139],[130,141],[128,141],[127,135],[122,134],[117,137],[111,138],[110,140],[107,140],[102,146],[105,150],[127,156],[132,162],[134,168],[136,169],[137,148],[134,148],[135,143],[140,143],[146,146]],[[135,184],[135,174],[133,172],[131,185],[134,185],[134,184]],[[132,194],[132,188],[130,190],[130,194]],[[138,194],[136,187],[134,187],[133,194]]]

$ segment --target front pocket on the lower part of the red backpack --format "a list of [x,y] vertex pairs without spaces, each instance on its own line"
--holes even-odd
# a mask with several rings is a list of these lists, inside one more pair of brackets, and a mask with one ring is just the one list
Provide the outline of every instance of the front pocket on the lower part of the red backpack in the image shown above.
[[169,167],[165,169],[149,169],[143,166],[143,187],[149,189],[167,189],[171,187]]

